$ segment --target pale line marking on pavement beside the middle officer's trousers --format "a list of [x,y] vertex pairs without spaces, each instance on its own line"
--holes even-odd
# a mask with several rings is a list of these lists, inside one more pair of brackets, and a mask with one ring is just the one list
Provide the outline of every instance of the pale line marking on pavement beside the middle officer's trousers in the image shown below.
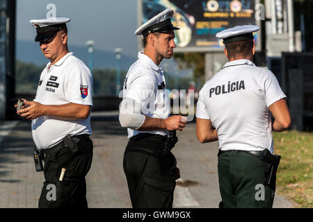
[[[184,182],[182,178],[176,180]],[[199,203],[193,199],[188,187],[177,186],[174,190],[173,207],[200,207]]]

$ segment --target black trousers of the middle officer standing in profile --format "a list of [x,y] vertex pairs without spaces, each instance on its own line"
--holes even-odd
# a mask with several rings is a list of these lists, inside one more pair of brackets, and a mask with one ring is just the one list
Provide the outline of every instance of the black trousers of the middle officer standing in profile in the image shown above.
[[134,208],[172,208],[176,166],[172,153],[163,153],[159,135],[131,138],[125,149],[123,167]]

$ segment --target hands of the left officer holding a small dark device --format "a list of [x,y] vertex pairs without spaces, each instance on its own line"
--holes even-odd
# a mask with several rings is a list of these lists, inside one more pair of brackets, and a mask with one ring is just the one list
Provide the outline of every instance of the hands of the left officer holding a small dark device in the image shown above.
[[25,103],[25,107],[22,110],[17,111],[17,114],[21,117],[25,117],[26,119],[33,120],[37,119],[38,117],[42,116],[44,112],[44,105],[41,103],[37,103],[34,101],[26,101],[23,100]]

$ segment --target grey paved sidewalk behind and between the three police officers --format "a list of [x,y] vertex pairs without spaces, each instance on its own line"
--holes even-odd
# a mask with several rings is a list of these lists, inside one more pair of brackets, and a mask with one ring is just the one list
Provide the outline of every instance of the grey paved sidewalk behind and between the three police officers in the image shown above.
[[[122,156],[127,132],[120,128],[117,112],[94,113],[92,119],[94,156],[86,177],[89,207],[131,207]],[[8,122],[4,122],[8,123]],[[11,125],[10,125],[11,124]],[[14,126],[8,123],[6,126]],[[53,129],[51,129],[53,130]],[[35,172],[31,125],[18,121],[8,132],[0,126],[0,207],[37,207],[44,181]],[[177,180],[174,207],[218,207],[218,144],[200,144],[195,123],[178,132],[179,142],[173,149],[182,178]],[[275,196],[274,207],[292,207],[282,196]]]

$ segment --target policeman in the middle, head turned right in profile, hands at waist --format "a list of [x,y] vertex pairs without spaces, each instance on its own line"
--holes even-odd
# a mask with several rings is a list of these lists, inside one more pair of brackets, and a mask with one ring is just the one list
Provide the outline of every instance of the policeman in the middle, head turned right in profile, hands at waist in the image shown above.
[[166,81],[159,68],[175,48],[173,30],[179,28],[170,22],[173,13],[166,9],[135,31],[143,35],[145,50],[138,53],[125,78],[120,124],[128,128],[123,166],[133,207],[172,207],[179,178],[170,152],[177,137],[170,131],[182,131],[186,117],[169,117]]

